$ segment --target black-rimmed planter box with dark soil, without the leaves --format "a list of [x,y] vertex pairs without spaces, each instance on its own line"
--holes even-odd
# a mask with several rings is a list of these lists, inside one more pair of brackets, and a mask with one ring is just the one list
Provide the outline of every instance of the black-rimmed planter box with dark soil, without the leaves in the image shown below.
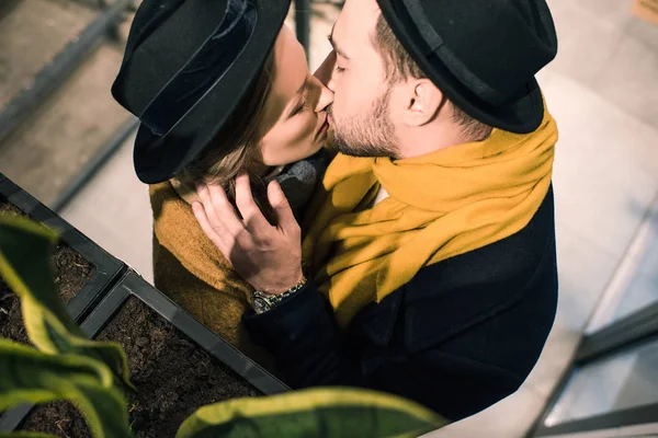
[[[97,266],[69,311],[92,338],[122,344],[137,394],[127,394],[138,437],[173,436],[182,420],[204,404],[236,396],[288,391],[222,337],[145,281],[136,272],[0,175],[0,197],[33,219],[64,230],[63,238]],[[110,261],[112,274],[101,262]],[[101,267],[102,266],[102,267]],[[141,391],[140,391],[141,388]],[[67,403],[19,406],[0,418],[0,431],[35,429],[87,436],[82,417]],[[44,429],[38,425],[59,429]],[[61,423],[64,422],[64,426]]]

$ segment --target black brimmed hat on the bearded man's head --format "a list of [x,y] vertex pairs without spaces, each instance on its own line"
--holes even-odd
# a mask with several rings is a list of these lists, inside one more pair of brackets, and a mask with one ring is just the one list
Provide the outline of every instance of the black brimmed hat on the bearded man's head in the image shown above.
[[544,0],[377,0],[400,44],[461,110],[531,132],[543,118],[534,76],[557,54]]

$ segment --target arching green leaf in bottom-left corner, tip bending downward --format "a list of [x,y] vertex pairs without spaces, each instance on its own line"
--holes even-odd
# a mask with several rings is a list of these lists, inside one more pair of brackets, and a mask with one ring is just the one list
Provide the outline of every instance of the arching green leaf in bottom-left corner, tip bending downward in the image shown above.
[[94,437],[132,436],[126,403],[103,362],[47,355],[0,338],[0,411],[25,402],[68,400],[82,412]]

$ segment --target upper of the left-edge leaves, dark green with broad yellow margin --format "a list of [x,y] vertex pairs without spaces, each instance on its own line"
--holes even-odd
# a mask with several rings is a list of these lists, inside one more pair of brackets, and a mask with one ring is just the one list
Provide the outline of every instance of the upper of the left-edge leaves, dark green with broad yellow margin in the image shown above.
[[128,362],[116,343],[87,338],[53,281],[50,255],[57,233],[29,219],[0,216],[0,276],[21,299],[30,339],[47,354],[78,354],[106,364],[128,388]]

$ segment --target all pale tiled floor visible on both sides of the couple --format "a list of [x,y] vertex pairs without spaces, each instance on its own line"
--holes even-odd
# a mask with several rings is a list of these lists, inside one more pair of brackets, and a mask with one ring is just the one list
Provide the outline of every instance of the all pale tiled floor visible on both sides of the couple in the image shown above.
[[[523,436],[658,193],[658,26],[633,18],[631,0],[548,3],[560,47],[540,82],[560,130],[554,173],[558,316],[540,362],[515,394],[430,437]],[[334,12],[322,12],[313,24],[311,68],[329,49]],[[146,188],[132,176],[129,149],[126,142],[64,216],[150,278],[150,210]],[[626,307],[658,299],[656,244],[646,247],[654,252],[638,256],[643,267]]]

